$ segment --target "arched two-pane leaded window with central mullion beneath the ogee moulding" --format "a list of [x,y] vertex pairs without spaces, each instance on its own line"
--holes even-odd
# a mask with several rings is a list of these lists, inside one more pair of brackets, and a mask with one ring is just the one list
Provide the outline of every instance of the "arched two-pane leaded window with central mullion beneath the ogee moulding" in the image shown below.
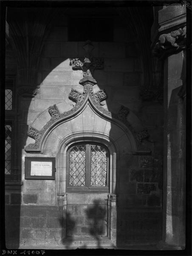
[[108,189],[108,151],[99,144],[77,144],[68,151],[68,189]]

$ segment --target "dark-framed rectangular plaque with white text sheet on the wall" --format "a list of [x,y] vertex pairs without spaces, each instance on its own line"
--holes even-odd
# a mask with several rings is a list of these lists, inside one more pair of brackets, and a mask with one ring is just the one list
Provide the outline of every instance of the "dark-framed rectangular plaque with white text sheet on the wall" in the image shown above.
[[25,180],[54,180],[55,157],[25,157]]

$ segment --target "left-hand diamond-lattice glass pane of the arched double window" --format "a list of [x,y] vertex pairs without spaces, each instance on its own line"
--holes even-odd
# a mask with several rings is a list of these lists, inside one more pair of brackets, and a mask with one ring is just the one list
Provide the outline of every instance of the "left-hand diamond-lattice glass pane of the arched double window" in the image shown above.
[[71,148],[69,154],[69,185],[85,186],[85,145]]

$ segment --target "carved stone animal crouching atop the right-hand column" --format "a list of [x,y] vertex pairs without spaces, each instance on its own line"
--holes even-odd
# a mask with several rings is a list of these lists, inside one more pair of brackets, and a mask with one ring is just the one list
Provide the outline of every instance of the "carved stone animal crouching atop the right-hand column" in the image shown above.
[[168,34],[160,35],[159,44],[160,44],[161,48],[164,49],[165,48],[164,44],[167,42],[174,47],[178,47],[178,44],[175,43],[175,40],[178,39],[179,35],[181,35],[182,33],[183,33],[182,29],[178,29],[178,30],[172,31]]

